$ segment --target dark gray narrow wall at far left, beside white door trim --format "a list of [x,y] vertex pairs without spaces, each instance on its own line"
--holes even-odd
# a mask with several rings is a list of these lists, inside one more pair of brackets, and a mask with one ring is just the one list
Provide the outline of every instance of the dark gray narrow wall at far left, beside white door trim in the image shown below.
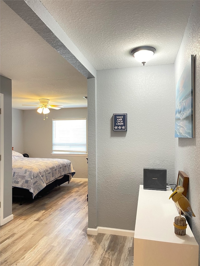
[[12,214],[12,80],[0,76],[4,120],[3,218]]

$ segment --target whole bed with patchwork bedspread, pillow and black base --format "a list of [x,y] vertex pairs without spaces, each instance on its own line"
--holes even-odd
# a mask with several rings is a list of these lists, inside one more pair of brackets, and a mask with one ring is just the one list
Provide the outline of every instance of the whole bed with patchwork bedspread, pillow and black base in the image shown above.
[[[12,196],[37,196],[70,182],[75,171],[66,159],[27,158],[12,151]],[[21,204],[21,202],[20,202]]]

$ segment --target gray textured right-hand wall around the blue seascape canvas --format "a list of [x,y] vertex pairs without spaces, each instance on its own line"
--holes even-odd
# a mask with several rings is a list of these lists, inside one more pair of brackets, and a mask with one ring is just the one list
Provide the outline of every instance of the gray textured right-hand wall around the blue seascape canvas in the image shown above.
[[[194,1],[181,46],[174,65],[174,91],[190,55],[196,55],[195,68],[195,138],[175,139],[175,172],[189,177],[188,198],[196,217],[188,219],[200,246],[200,1]],[[176,179],[177,179],[176,176]],[[199,250],[200,265],[200,250]]]

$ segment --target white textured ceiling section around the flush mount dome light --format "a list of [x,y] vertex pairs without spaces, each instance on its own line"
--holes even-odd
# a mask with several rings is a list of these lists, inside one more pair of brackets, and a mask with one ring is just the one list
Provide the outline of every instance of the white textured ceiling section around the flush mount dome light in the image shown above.
[[78,49],[97,69],[141,66],[130,55],[156,48],[146,65],[172,64],[193,1],[41,0]]

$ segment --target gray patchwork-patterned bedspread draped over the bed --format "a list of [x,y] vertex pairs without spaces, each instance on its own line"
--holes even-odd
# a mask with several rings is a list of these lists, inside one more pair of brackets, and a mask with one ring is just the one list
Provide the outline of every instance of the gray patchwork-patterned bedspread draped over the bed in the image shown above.
[[28,189],[33,198],[48,183],[65,174],[69,174],[71,178],[75,174],[72,163],[66,159],[12,159],[12,186]]

